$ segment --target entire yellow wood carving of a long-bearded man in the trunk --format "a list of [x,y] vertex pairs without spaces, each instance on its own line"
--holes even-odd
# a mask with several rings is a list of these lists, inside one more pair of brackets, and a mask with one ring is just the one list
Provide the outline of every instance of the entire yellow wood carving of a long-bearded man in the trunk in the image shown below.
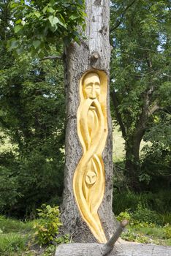
[[107,75],[99,70],[86,72],[80,80],[77,133],[83,156],[75,170],[73,188],[80,214],[97,241],[105,243],[98,208],[104,197],[102,151],[107,138]]

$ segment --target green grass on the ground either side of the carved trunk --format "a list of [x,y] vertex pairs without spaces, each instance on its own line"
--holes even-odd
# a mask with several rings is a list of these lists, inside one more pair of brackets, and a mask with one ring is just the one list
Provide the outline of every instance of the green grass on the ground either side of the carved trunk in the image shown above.
[[[33,243],[35,221],[21,222],[0,216],[0,255],[1,256],[51,256],[54,255],[56,246],[50,245],[44,248]],[[169,228],[169,233],[168,233]],[[166,233],[167,230],[167,233]],[[170,226],[160,227],[156,225],[141,226],[129,225],[122,238],[127,241],[161,244],[171,246]]]

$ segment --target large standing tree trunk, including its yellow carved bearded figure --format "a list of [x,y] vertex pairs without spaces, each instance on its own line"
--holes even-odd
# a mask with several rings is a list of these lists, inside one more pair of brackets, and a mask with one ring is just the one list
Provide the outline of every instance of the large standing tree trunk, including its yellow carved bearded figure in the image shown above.
[[[73,241],[105,242],[117,226],[112,211],[113,154],[109,106],[110,1],[87,0],[86,14],[86,39],[82,40],[80,45],[73,42],[66,49],[65,54],[66,165],[61,219],[64,223],[64,232],[72,234]],[[87,72],[88,75],[85,76]],[[90,79],[92,74],[93,79],[100,80],[100,93],[98,85],[93,89],[95,94],[98,94],[96,99],[86,89],[82,91],[82,83],[86,83],[85,80]],[[94,94],[94,91],[91,91],[91,94]],[[86,119],[86,105],[82,110],[81,105],[84,101],[91,102],[91,100],[94,103],[91,104],[88,110],[89,116]],[[90,111],[90,109],[94,110]],[[95,119],[96,122],[90,121]],[[98,124],[96,132],[94,132],[95,123]],[[91,129],[91,126],[94,129]],[[88,127],[87,132],[86,127]],[[93,135],[93,133],[96,134]],[[88,136],[91,139],[88,139]],[[90,162],[88,157],[94,169],[97,170],[88,173],[85,169],[83,173]],[[83,177],[87,180],[83,180]],[[94,177],[96,182],[92,185],[94,181],[88,181],[88,178]],[[83,185],[80,184],[81,182]],[[94,214],[96,209],[98,211]],[[90,220],[91,223],[89,223]],[[98,236],[101,236],[100,233],[104,235],[102,234],[98,239]]]

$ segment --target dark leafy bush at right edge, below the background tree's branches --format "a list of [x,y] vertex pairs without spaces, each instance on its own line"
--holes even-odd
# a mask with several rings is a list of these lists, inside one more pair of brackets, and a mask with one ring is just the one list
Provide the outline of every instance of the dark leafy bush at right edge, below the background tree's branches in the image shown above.
[[144,137],[151,141],[151,145],[143,148],[141,168],[142,173],[149,177],[149,187],[153,191],[159,187],[170,187],[170,121],[169,113],[155,115],[155,121]]

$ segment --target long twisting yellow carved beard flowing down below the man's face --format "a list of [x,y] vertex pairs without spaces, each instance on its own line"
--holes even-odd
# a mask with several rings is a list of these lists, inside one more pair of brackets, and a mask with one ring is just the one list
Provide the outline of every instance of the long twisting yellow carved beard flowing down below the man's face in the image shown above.
[[77,165],[73,187],[77,206],[83,219],[100,242],[105,242],[98,208],[104,195],[104,165],[102,142],[104,116],[97,99],[85,99],[77,112],[77,129],[83,146],[83,156]]

